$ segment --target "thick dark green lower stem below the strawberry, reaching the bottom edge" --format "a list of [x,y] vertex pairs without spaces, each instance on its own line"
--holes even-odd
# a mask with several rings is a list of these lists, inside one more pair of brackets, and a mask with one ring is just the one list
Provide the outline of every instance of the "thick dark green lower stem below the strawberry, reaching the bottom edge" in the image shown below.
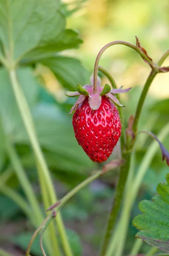
[[120,168],[118,183],[115,189],[115,198],[113,200],[112,209],[110,210],[110,214],[108,217],[107,227],[104,234],[103,243],[101,246],[100,256],[105,256],[107,246],[109,244],[110,237],[112,235],[112,230],[115,226],[118,211],[121,206],[121,200],[123,197],[124,187],[125,187],[129,166],[130,166],[130,152],[123,152],[122,158],[125,160],[125,163],[121,165],[121,168]]

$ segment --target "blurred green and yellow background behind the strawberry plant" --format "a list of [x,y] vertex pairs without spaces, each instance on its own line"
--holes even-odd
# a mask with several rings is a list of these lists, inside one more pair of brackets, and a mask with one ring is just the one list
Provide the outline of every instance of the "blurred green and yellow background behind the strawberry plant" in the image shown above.
[[[68,111],[75,99],[67,99],[65,89],[75,90],[76,83],[89,83],[94,62],[99,50],[108,42],[115,40],[135,44],[135,35],[147,50],[153,61],[163,55],[169,47],[169,1],[168,0],[88,0],[62,2],[62,12],[67,16],[67,28],[79,31],[83,44],[78,49],[69,49],[63,55],[76,57],[79,61],[70,62],[74,67],[69,70],[69,60],[64,69],[61,57],[59,67],[47,63],[36,66],[34,73],[26,67],[20,69],[20,81],[28,76],[24,92],[28,95],[37,134],[45,158],[53,173],[59,198],[76,184],[84,180],[94,169],[100,169],[90,161],[76,142],[71,125],[72,116]],[[66,58],[66,57],[65,57]],[[130,93],[121,96],[125,123],[135,113],[141,88],[150,72],[149,66],[132,49],[113,46],[104,53],[100,64],[112,73],[118,87],[133,87]],[[169,59],[164,65],[169,65]],[[107,80],[102,78],[102,84]],[[6,79],[6,72],[0,70],[0,81]],[[32,79],[32,80],[31,80]],[[31,84],[31,86],[30,86]],[[8,97],[8,102],[6,98]],[[6,118],[8,115],[8,118]],[[14,96],[9,83],[0,91],[0,122],[3,122],[9,136],[12,137],[17,153],[22,160],[26,173],[34,185],[39,202],[41,195],[37,182],[33,153],[23,123],[15,108]],[[161,73],[153,81],[139,121],[139,129],[158,134],[169,122],[169,73]],[[0,134],[1,136],[1,134]],[[136,154],[136,169],[141,163],[151,139],[141,135]],[[169,149],[169,137],[164,145]],[[118,157],[117,145],[110,160]],[[150,199],[156,193],[156,185],[164,181],[169,171],[161,160],[161,152],[154,157],[132,210],[132,218],[139,213],[138,202]],[[3,181],[23,195],[20,183],[14,175],[13,167],[3,147],[3,135],[0,145],[0,172]],[[4,170],[8,170],[3,175]],[[106,222],[107,212],[113,199],[117,171],[90,186],[82,189],[62,209],[75,256],[96,255]],[[22,256],[34,230],[20,208],[4,193],[0,195],[0,247],[13,255]],[[133,244],[136,229],[131,226],[127,236],[126,255]],[[39,243],[37,241],[37,243]],[[148,245],[142,247],[142,252]],[[41,255],[35,242],[32,254]]]

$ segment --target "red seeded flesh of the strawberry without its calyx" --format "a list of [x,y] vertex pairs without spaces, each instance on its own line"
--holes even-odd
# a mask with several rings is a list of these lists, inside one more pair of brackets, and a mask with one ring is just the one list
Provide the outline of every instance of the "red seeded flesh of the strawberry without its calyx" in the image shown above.
[[76,140],[93,162],[102,163],[112,154],[121,135],[118,110],[107,96],[101,96],[101,105],[92,110],[89,97],[78,105],[73,114]]

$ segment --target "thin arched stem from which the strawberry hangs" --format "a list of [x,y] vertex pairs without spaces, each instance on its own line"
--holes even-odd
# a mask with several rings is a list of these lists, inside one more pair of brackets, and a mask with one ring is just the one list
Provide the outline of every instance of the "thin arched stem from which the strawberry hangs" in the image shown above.
[[94,83],[93,83],[93,93],[97,93],[97,74],[98,74],[98,66],[99,66],[99,60],[101,58],[101,55],[103,54],[103,52],[109,48],[112,45],[115,44],[123,44],[126,45],[132,49],[134,49],[136,52],[138,52],[141,57],[143,57],[147,62],[149,62],[151,65],[153,65],[153,62],[146,56],[146,54],[144,52],[142,52],[138,47],[136,47],[133,44],[124,42],[124,41],[114,41],[114,42],[110,42],[109,44],[106,44],[98,53],[96,61],[95,61],[95,65],[94,65]]

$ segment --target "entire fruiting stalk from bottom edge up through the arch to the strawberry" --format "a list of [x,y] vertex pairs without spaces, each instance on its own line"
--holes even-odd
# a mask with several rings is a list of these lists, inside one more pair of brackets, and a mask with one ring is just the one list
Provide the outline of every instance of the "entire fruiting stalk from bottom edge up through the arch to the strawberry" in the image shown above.
[[[133,46],[132,44],[128,44],[126,42],[121,42],[121,41],[111,42],[111,43],[107,44],[106,46],[104,46],[101,49],[101,51],[99,52],[99,54],[97,55],[97,58],[96,58],[96,61],[95,61],[95,66],[94,66],[94,84],[93,84],[94,89],[93,89],[93,93],[97,93],[97,74],[98,74],[98,66],[99,66],[99,60],[101,58],[101,55],[108,47],[110,47],[114,44],[124,44],[124,45],[134,49],[152,67],[154,67],[154,64],[149,60],[149,58],[144,54],[144,52],[141,52],[140,49]],[[165,58],[168,55],[169,55],[169,52],[167,52],[166,55],[163,55],[161,57],[161,59],[158,61],[158,63],[162,64],[162,62],[165,60]],[[134,123],[133,123],[133,130],[134,131],[137,131],[138,119],[140,117],[141,109],[143,107],[144,100],[146,98],[146,93],[148,92],[148,89],[149,89],[149,87],[150,87],[150,85],[151,85],[151,83],[152,83],[152,81],[155,78],[157,73],[158,73],[157,67],[153,68],[149,77],[148,77],[148,79],[146,80],[146,84],[144,85],[144,89],[143,89],[143,92],[141,93],[141,97],[140,97],[139,102],[138,102],[138,106],[137,106],[137,110],[136,110],[136,114],[135,114],[135,119],[134,119]],[[131,150],[132,150],[132,146],[131,146]],[[129,157],[127,157],[128,159],[130,159],[131,150],[129,152],[127,152],[129,154]],[[124,158],[123,154],[122,154],[122,156]],[[129,162],[130,162],[130,160],[127,161],[126,168],[121,167],[120,176],[119,176],[119,179],[118,179],[118,184],[117,184],[116,191],[115,191],[115,199],[113,201],[112,210],[110,211],[110,216],[109,216],[108,224],[107,224],[107,230],[106,230],[106,233],[105,233],[105,236],[104,236],[104,241],[103,241],[103,244],[102,244],[100,256],[104,256],[104,254],[106,252],[106,248],[107,248],[109,240],[110,240],[111,232],[112,232],[113,227],[115,225],[115,220],[117,218],[118,211],[119,211],[120,206],[121,206],[120,201],[122,200],[123,191],[124,191],[125,183],[126,183],[126,180],[127,180],[127,175],[128,175],[128,172],[129,172],[129,164],[128,164]],[[124,179],[121,176],[124,176]],[[124,182],[123,184],[120,184],[121,180]],[[111,216],[111,215],[114,215],[114,216]]]

